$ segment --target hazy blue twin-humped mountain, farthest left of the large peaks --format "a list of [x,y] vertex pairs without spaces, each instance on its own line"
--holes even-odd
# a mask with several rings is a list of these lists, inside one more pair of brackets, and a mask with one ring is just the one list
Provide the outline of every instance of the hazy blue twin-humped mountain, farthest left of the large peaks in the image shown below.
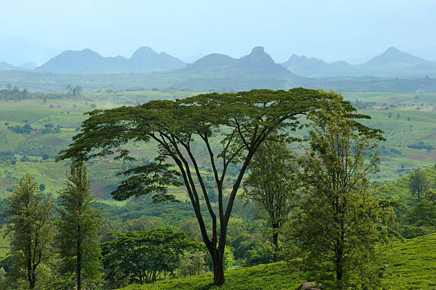
[[169,71],[184,66],[185,63],[167,53],[156,53],[149,47],[141,47],[131,58],[104,57],[90,49],[63,51],[35,70],[71,74],[139,73]]

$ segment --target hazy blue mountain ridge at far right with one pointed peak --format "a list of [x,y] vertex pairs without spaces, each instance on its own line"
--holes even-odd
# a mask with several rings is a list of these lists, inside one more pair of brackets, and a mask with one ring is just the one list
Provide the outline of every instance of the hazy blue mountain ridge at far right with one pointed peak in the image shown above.
[[436,62],[412,56],[393,46],[370,61],[357,65],[351,65],[346,61],[327,63],[320,58],[308,58],[295,54],[281,65],[298,75],[309,77],[436,75]]

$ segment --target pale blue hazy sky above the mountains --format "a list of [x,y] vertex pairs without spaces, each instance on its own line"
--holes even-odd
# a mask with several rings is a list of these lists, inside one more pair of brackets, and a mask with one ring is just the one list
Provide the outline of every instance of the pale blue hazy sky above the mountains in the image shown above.
[[130,57],[150,46],[187,58],[264,46],[353,63],[395,46],[436,60],[436,0],[1,0],[0,34],[41,46]]

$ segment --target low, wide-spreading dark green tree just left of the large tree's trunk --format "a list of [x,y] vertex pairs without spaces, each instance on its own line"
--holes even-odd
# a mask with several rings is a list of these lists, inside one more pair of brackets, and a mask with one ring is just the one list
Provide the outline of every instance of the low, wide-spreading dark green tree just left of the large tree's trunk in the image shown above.
[[181,255],[201,248],[201,244],[190,239],[187,233],[172,229],[115,233],[113,236],[113,241],[102,245],[103,266],[108,270],[105,279],[110,281],[127,278],[130,282],[147,284],[156,281],[162,273],[174,276]]

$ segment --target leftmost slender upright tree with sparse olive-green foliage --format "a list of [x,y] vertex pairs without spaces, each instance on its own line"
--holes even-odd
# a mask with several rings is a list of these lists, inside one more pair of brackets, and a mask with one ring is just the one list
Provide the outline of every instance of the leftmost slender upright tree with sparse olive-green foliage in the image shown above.
[[8,198],[8,207],[6,234],[11,234],[16,269],[26,269],[29,288],[34,289],[37,269],[53,254],[53,202],[38,193],[38,184],[26,173]]

